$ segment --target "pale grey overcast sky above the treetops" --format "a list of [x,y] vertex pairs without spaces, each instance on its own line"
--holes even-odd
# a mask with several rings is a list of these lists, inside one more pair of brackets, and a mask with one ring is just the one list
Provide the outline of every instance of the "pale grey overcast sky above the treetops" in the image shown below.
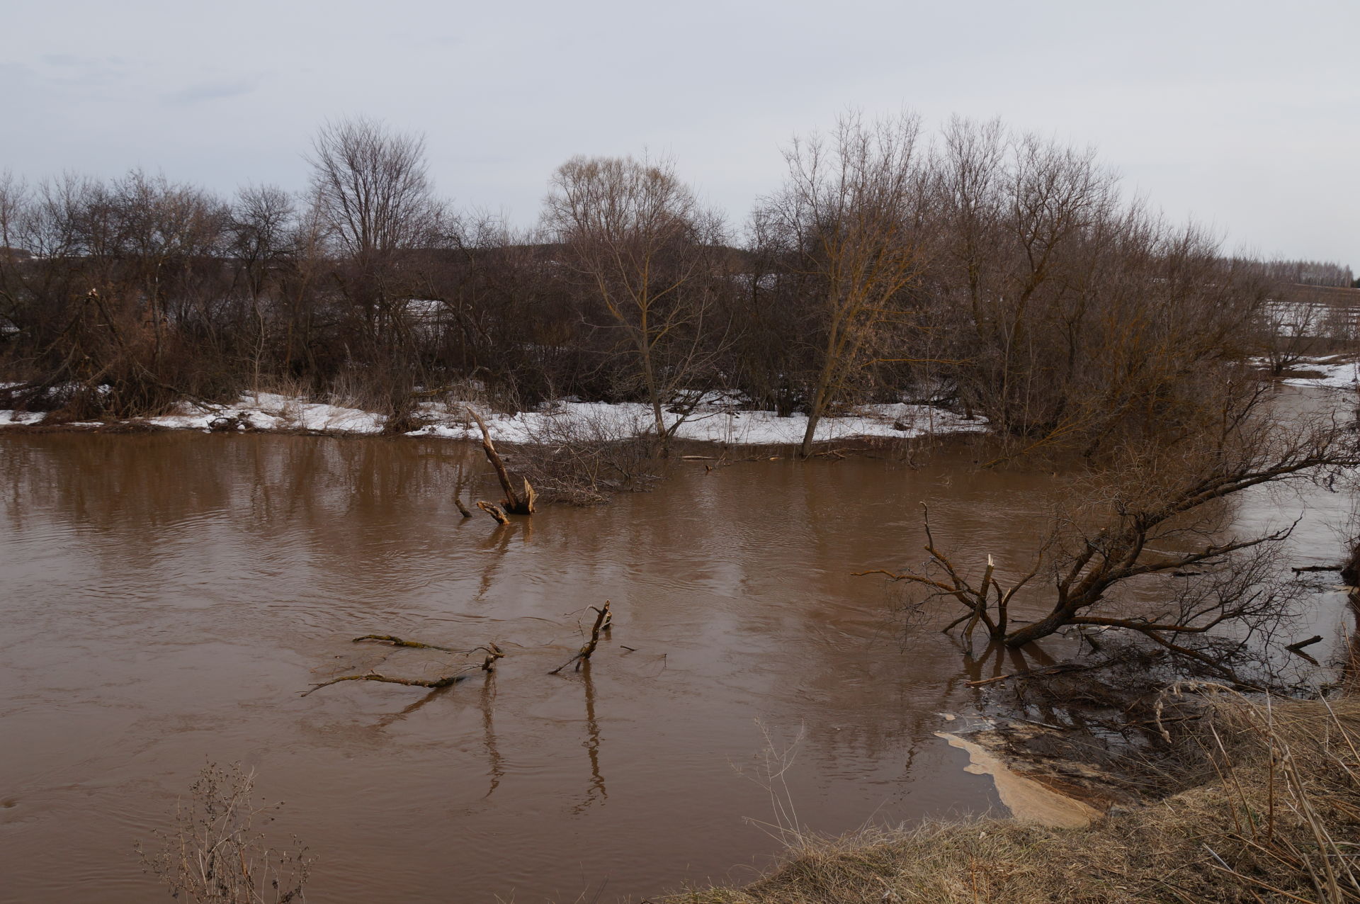
[[573,154],[675,156],[730,220],[849,106],[1093,144],[1228,249],[1360,269],[1360,0],[0,5],[0,170],[302,188],[311,133],[426,133],[461,207],[537,216]]

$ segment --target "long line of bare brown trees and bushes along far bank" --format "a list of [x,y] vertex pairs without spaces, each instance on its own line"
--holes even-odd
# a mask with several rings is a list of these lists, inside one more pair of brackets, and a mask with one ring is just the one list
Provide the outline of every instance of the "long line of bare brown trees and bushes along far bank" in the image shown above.
[[397,430],[479,386],[642,401],[664,446],[730,389],[805,412],[804,451],[828,412],[908,398],[1095,454],[1193,416],[1263,353],[1281,283],[1326,269],[1223,256],[1089,150],[997,121],[846,116],[793,141],[741,226],[666,159],[573,158],[528,228],[456,211],[422,139],[371,120],[325,125],[307,159],[307,189],[230,198],[141,171],[0,178],[0,406],[128,417],[284,387]]

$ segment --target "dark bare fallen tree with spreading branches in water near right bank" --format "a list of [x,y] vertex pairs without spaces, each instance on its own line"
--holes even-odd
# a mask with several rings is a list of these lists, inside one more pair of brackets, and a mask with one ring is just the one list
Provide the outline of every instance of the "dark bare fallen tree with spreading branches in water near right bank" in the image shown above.
[[[1065,628],[1121,631],[1238,681],[1232,661],[1289,614],[1293,594],[1278,555],[1293,525],[1231,536],[1225,500],[1263,484],[1334,480],[1360,465],[1349,424],[1277,419],[1266,401],[1254,387],[1225,397],[1212,412],[1212,430],[1127,449],[1084,477],[1073,492],[1080,504],[1054,517],[1034,561],[1008,585],[990,555],[981,580],[966,574],[959,556],[936,542],[929,510],[923,564],[857,574],[881,574],[925,589],[929,599],[957,604],[962,612],[945,631],[963,624],[970,643],[979,628],[1010,648]],[[1047,583],[1042,595],[1040,583]],[[1156,602],[1132,604],[1130,587]],[[1040,608],[1038,619],[1013,617],[1021,593]]]

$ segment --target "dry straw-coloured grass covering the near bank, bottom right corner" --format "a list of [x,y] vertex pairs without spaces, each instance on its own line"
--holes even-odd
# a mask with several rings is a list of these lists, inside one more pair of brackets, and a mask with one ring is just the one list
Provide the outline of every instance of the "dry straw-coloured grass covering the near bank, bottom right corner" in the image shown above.
[[[676,904],[1360,901],[1360,700],[1246,699],[1198,684],[1193,787],[1087,829],[1006,820],[804,840],[772,875]],[[1187,776],[1189,778],[1189,776]]]

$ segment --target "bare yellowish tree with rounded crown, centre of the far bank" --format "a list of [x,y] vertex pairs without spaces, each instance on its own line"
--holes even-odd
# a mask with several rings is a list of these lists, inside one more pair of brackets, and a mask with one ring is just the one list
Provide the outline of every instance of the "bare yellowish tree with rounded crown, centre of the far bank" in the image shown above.
[[[554,174],[544,223],[616,332],[615,351],[651,409],[662,453],[721,352],[721,219],[670,160],[575,156]],[[676,415],[666,424],[665,412]]]

